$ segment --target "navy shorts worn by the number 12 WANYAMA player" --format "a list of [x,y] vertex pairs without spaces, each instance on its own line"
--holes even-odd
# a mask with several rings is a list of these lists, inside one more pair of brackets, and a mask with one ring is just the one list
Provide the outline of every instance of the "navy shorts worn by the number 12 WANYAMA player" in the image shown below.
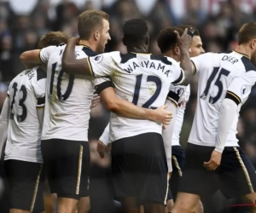
[[162,135],[146,133],[113,141],[113,189],[117,200],[166,204],[168,168]]

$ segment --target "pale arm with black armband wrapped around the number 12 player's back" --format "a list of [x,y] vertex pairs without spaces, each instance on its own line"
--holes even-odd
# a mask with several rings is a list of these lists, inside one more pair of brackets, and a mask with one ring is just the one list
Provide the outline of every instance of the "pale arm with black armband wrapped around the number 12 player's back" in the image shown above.
[[169,124],[172,119],[172,113],[165,110],[167,107],[166,105],[152,110],[143,107],[137,107],[129,101],[119,99],[115,95],[112,82],[109,81],[109,79],[106,81],[103,80],[101,83],[96,83],[96,90],[97,93],[101,96],[102,102],[105,104],[109,111],[119,114],[125,118],[148,119],[160,124]]

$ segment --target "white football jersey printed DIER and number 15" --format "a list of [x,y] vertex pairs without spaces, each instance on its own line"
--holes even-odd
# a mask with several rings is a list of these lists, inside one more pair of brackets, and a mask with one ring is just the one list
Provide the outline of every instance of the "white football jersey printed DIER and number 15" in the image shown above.
[[247,55],[241,55],[236,51],[227,54],[207,53],[191,60],[196,72],[199,72],[199,83],[189,142],[215,147],[219,112],[227,95],[236,101],[238,110],[225,146],[238,146],[236,126],[241,105],[247,101],[256,80],[255,66]]

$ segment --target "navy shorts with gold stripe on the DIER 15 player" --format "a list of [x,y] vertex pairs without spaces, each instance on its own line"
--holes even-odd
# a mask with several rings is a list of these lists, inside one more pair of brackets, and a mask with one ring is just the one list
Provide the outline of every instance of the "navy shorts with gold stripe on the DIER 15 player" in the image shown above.
[[199,195],[213,194],[218,189],[227,199],[254,193],[256,174],[253,164],[240,147],[225,147],[217,170],[208,171],[203,163],[209,161],[214,147],[188,143],[179,192]]

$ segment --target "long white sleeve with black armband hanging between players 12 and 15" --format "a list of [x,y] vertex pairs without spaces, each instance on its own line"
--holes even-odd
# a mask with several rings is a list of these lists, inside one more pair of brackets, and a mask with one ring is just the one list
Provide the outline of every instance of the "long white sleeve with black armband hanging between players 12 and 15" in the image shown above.
[[[171,98],[172,102],[177,106],[175,125],[172,133],[172,146],[178,146],[180,145],[179,135],[183,127],[184,113],[189,101],[190,85],[172,85],[170,90],[167,98]],[[177,96],[178,101],[175,100],[176,97],[174,96]]]

